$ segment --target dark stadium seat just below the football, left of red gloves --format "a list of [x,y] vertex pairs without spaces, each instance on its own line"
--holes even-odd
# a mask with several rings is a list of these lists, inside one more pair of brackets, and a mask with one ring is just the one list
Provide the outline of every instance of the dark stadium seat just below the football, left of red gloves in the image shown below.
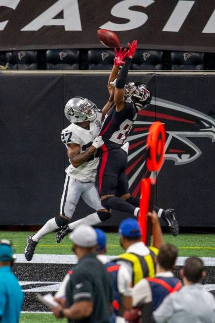
[[88,68],[111,70],[114,63],[114,57],[114,50],[90,50],[88,51]]

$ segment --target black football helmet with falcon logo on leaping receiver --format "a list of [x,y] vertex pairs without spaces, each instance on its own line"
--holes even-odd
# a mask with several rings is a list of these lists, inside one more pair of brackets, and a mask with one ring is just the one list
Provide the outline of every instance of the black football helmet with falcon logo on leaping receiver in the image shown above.
[[125,85],[124,92],[132,100],[137,110],[141,110],[151,103],[151,91],[141,82],[129,82]]

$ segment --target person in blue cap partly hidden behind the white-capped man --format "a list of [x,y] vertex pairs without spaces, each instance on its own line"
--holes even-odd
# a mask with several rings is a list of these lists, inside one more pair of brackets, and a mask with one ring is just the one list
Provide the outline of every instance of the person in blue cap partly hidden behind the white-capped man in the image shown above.
[[107,256],[106,234],[101,229],[95,229],[97,235],[97,259],[100,260],[110,272],[113,282],[113,315],[110,323],[125,323],[124,310],[132,308],[131,287],[129,286],[129,272],[125,266],[110,261]]

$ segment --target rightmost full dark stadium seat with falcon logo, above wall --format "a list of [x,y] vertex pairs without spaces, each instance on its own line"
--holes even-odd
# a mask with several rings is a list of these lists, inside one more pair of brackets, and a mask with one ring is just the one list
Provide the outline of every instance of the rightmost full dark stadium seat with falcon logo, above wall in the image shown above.
[[204,69],[204,53],[172,52],[172,70],[201,70]]

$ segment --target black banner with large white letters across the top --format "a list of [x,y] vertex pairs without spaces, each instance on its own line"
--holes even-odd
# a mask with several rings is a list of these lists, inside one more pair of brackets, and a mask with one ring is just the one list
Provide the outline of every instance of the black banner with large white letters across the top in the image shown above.
[[122,46],[215,52],[214,21],[214,0],[0,0],[0,50],[102,48],[102,28]]

